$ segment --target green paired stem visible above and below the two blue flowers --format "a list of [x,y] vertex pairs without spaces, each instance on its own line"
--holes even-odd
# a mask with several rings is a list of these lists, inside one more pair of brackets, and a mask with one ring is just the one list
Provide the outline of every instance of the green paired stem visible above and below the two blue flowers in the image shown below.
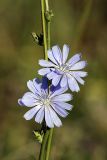
[[[50,21],[45,18],[45,9],[49,11],[48,0],[41,0],[42,10],[42,27],[45,59],[48,60],[47,50],[50,48]],[[43,142],[41,144],[39,160],[48,160],[51,148],[53,129],[47,129],[44,133]]]

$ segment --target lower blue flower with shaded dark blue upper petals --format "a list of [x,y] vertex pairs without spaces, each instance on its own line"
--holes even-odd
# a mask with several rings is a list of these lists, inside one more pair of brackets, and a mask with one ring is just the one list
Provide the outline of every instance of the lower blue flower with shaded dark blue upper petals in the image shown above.
[[38,79],[29,80],[27,87],[30,92],[25,93],[18,100],[19,105],[32,107],[25,113],[24,118],[30,120],[35,117],[35,121],[38,123],[42,123],[45,120],[49,128],[53,128],[54,125],[60,127],[62,122],[58,115],[66,117],[68,115],[66,110],[72,109],[72,105],[66,103],[72,99],[71,94],[64,93],[67,88],[54,87],[52,85],[48,87],[46,77],[43,77],[42,82]]

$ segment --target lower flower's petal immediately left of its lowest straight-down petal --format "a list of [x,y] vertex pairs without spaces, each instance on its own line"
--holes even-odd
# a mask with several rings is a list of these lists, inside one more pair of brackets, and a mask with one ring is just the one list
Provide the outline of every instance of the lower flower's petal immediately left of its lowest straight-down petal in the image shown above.
[[38,123],[42,123],[44,115],[45,115],[45,108],[43,106],[36,114],[35,121]]

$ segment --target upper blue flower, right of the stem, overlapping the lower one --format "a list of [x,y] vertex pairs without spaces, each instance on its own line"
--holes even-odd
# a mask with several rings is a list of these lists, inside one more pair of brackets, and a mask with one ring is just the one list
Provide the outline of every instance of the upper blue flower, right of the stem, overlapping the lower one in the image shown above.
[[81,54],[75,54],[67,61],[68,54],[68,45],[63,46],[62,53],[58,46],[53,46],[48,50],[50,61],[39,60],[39,64],[45,68],[40,69],[38,73],[52,80],[54,86],[60,83],[61,87],[68,86],[71,91],[78,92],[80,88],[77,82],[83,85],[82,77],[87,76],[87,72],[81,71],[87,62],[81,61]]

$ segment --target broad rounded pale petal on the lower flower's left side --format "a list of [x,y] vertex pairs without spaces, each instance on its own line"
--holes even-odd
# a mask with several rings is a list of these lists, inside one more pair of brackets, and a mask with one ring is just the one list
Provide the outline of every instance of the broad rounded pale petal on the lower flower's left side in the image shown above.
[[37,96],[31,92],[25,93],[22,97],[22,103],[27,107],[34,107],[37,101]]

